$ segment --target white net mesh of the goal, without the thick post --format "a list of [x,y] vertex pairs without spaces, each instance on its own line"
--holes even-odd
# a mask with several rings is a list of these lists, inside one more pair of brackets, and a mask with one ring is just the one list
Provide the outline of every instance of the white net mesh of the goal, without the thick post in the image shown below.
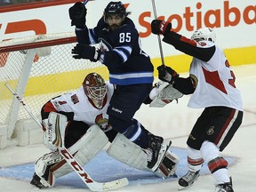
[[[0,124],[7,124],[13,100],[12,92],[4,84],[17,90],[20,77],[27,76],[23,69],[31,47],[36,49],[36,54],[20,96],[35,116],[40,115],[47,100],[80,87],[90,72],[97,72],[108,80],[108,69],[102,64],[72,58],[71,49],[75,45],[74,33],[30,36],[0,43]],[[17,109],[18,120],[30,118],[26,110]]]

